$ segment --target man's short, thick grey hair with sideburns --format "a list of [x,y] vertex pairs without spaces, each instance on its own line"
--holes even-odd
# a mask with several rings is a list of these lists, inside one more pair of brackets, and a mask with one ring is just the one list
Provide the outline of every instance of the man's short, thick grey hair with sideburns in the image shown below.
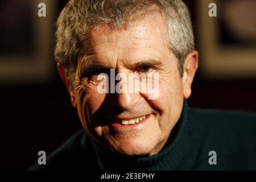
[[88,31],[101,24],[122,28],[125,23],[157,6],[167,18],[167,43],[178,61],[180,75],[187,54],[195,49],[192,23],[187,6],[181,0],[69,0],[57,19],[55,60],[73,80],[82,43]]

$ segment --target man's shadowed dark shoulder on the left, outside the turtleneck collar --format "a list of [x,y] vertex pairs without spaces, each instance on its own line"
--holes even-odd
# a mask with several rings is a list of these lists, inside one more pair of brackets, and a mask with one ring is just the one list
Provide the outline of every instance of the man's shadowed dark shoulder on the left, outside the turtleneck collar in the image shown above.
[[80,130],[49,154],[45,165],[35,164],[28,170],[86,169],[85,164],[89,164],[92,158],[83,143],[90,144],[88,134],[84,130]]

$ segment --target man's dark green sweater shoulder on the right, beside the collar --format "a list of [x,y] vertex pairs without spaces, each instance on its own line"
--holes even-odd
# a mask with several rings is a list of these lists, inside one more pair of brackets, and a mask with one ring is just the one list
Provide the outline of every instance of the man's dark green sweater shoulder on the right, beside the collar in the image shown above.
[[[207,169],[250,169],[256,166],[256,113],[242,110],[189,109],[199,142],[197,164]],[[218,165],[209,166],[216,151]],[[200,166],[200,165],[199,165]]]

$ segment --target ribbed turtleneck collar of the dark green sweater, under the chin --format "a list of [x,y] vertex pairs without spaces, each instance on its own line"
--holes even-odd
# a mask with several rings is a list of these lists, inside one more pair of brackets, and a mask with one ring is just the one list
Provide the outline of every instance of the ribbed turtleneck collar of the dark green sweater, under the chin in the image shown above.
[[96,153],[102,170],[189,170],[196,159],[198,142],[193,122],[188,118],[188,104],[184,100],[180,119],[171,133],[170,146],[153,156],[119,156],[101,147],[92,137],[89,137],[92,142],[90,150]]

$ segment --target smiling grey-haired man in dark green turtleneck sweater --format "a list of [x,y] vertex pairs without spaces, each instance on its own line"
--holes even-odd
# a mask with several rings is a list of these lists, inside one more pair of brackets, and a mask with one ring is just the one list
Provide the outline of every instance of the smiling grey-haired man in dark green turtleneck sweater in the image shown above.
[[31,169],[256,169],[256,114],[187,106],[198,52],[181,0],[70,0],[55,58],[84,130]]

